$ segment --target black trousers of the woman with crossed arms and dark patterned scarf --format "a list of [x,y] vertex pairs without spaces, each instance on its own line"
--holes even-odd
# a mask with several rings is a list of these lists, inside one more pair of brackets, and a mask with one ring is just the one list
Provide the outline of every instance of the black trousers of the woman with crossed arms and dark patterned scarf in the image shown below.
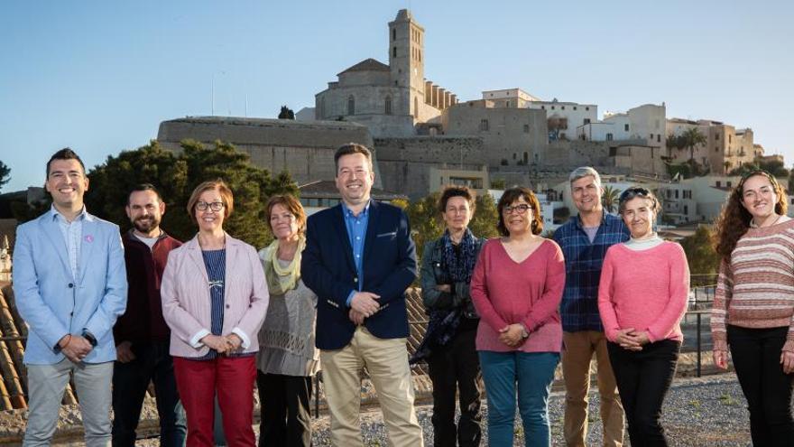
[[[475,349],[476,329],[459,331],[428,358],[433,382],[433,438],[435,447],[480,445],[482,373]],[[460,393],[460,419],[455,426],[455,395]]]

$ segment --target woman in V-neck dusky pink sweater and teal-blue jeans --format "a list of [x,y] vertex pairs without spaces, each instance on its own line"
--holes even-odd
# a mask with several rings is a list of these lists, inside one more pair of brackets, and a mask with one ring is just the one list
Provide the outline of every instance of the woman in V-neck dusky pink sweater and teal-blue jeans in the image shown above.
[[562,346],[562,251],[538,236],[540,203],[527,188],[504,191],[499,232],[480,252],[471,297],[476,349],[488,396],[488,444],[512,445],[516,384],[526,445],[549,445],[549,390]]

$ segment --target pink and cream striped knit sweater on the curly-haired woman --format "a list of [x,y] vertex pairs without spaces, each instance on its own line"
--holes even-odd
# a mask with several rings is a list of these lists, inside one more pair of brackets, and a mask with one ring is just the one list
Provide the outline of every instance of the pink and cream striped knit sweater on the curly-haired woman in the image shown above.
[[783,345],[794,351],[794,219],[749,228],[731,262],[720,265],[711,335],[714,349],[727,350],[725,324],[743,328],[789,327]]

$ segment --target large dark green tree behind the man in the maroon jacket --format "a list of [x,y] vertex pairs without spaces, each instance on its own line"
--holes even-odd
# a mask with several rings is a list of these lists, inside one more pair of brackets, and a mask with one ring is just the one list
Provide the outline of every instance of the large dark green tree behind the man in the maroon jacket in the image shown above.
[[267,170],[254,166],[248,154],[220,141],[208,148],[185,140],[181,149],[180,154],[174,154],[152,141],[137,150],[108,156],[105,163],[88,172],[88,210],[129,228],[124,210],[128,193],[135,184],[149,182],[161,190],[166,203],[162,227],[172,236],[187,240],[197,231],[185,210],[190,193],[200,182],[220,178],[235,195],[235,210],[224,224],[226,231],[254,247],[272,240],[263,214],[264,202],[275,193],[298,194],[289,173],[272,177]]

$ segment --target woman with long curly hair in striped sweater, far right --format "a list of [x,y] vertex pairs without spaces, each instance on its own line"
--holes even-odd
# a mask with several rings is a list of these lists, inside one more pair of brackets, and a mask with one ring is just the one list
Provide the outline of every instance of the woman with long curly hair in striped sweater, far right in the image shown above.
[[769,172],[751,172],[716,227],[722,264],[711,315],[714,363],[727,368],[730,347],[753,445],[794,445],[794,220],[786,200]]

